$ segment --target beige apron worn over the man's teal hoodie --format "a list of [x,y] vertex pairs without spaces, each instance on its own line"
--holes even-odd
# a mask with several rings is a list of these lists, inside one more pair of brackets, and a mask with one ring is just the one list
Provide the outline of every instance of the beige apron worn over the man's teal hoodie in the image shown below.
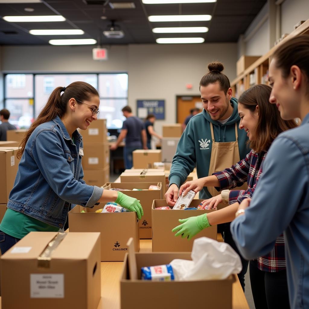
[[[235,123],[235,142],[215,142],[214,127],[212,123],[210,123],[210,131],[212,138],[212,148],[208,176],[211,176],[211,174],[214,172],[223,171],[225,168],[229,168],[240,161],[237,122]],[[248,184],[245,183],[241,187],[236,187],[235,190],[247,190],[247,188]],[[212,196],[216,196],[221,193],[221,191],[217,191],[214,187],[207,187],[207,190]],[[227,205],[228,204],[220,203],[217,208],[221,209]]]

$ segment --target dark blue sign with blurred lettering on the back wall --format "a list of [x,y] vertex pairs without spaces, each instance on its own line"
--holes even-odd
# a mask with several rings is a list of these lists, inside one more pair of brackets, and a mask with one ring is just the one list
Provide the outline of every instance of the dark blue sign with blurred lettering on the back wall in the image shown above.
[[154,114],[157,120],[165,119],[165,100],[137,100],[137,116],[146,118]]

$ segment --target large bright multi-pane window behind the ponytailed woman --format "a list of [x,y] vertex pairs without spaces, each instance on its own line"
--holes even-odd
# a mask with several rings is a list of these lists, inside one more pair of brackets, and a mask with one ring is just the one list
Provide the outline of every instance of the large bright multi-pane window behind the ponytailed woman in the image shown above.
[[83,81],[98,89],[99,118],[108,128],[119,129],[125,117],[121,109],[128,104],[128,74],[6,74],[4,107],[11,112],[9,121],[17,128],[28,128],[56,87]]

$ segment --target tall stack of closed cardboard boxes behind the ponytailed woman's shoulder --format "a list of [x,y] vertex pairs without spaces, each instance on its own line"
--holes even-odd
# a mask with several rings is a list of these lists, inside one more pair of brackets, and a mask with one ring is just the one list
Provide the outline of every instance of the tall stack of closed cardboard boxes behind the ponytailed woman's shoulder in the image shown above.
[[102,186],[109,181],[110,151],[107,142],[106,119],[93,121],[83,135],[82,166],[84,180],[91,186]]

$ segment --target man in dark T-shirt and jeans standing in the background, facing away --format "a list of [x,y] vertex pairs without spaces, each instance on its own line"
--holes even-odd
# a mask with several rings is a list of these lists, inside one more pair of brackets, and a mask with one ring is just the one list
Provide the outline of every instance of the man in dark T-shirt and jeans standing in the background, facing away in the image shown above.
[[125,168],[130,169],[133,166],[133,151],[137,149],[147,148],[147,135],[144,123],[133,116],[132,109],[129,106],[122,108],[123,116],[127,118],[122,125],[121,132],[111,150],[116,150],[122,140],[125,138],[125,147],[123,148],[123,156]]

